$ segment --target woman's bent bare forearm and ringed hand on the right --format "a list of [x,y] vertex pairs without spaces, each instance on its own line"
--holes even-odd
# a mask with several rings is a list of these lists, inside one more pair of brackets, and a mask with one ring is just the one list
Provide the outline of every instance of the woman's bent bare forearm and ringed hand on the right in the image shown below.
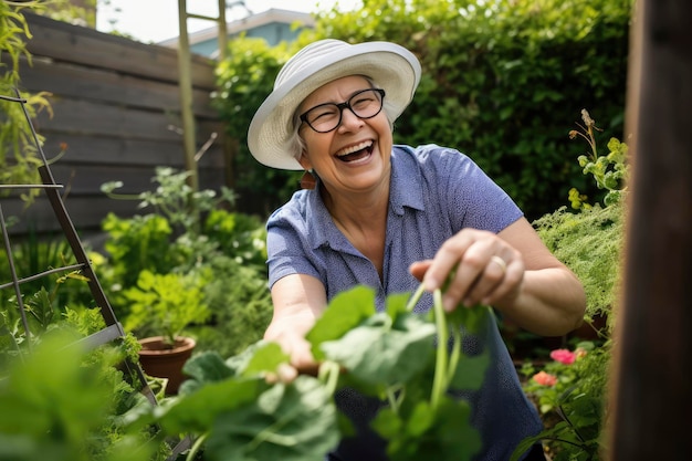
[[453,283],[443,297],[447,310],[460,302],[466,306],[489,304],[521,327],[544,336],[567,334],[583,321],[586,296],[581,283],[524,218],[497,234],[464,229],[444,242],[434,259],[412,264],[411,273],[432,291],[454,268]]

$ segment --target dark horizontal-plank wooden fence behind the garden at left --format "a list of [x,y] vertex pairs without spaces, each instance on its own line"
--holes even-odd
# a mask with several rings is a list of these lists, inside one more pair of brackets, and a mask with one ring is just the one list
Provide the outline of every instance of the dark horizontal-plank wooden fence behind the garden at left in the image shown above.
[[[34,127],[45,137],[46,157],[67,145],[51,170],[65,186],[72,221],[78,230],[95,231],[107,212],[132,216],[137,201],[111,199],[101,185],[119,180],[118,191],[138,193],[154,187],[157,166],[184,168],[177,51],[40,15],[27,19],[32,63],[21,65],[21,90],[52,93],[53,116],[42,112]],[[214,62],[193,55],[191,65],[197,145],[218,136],[198,163],[199,187],[218,189],[229,184],[230,154],[210,106]],[[13,233],[60,228],[43,197],[27,210],[14,196],[3,198],[2,207],[6,216],[20,217]]]

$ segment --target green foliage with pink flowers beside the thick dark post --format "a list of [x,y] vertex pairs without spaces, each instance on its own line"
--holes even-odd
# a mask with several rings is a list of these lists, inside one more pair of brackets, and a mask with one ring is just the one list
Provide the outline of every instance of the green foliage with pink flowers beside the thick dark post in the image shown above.
[[579,156],[578,161],[584,175],[607,191],[604,203],[589,203],[587,196],[573,190],[572,211],[560,207],[534,226],[551,251],[581,280],[587,295],[585,321],[605,317],[608,322],[597,331],[597,344],[553,350],[552,362],[539,368],[531,363],[523,365],[522,373],[528,378],[524,390],[536,401],[545,430],[523,441],[514,459],[537,440],[547,443],[555,461],[598,460],[602,449],[629,167],[627,146],[611,138],[608,154],[600,155],[595,121],[586,109],[581,111],[581,132],[572,130],[569,137],[588,143],[590,155]]

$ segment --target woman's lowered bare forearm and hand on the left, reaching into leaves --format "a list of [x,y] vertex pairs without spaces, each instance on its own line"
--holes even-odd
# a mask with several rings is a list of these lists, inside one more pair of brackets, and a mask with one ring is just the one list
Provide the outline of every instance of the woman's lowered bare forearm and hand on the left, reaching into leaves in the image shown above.
[[272,286],[272,302],[274,315],[264,339],[279,343],[298,371],[315,374],[317,365],[305,334],[327,305],[324,285],[311,275],[286,275]]

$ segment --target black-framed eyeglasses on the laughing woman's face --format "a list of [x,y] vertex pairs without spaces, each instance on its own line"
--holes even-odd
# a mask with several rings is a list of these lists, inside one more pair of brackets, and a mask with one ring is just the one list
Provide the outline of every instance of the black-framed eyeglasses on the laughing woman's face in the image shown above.
[[317,133],[329,133],[340,125],[345,108],[358,118],[373,118],[382,109],[384,99],[385,91],[381,88],[361,90],[345,103],[319,104],[304,112],[300,118]]

